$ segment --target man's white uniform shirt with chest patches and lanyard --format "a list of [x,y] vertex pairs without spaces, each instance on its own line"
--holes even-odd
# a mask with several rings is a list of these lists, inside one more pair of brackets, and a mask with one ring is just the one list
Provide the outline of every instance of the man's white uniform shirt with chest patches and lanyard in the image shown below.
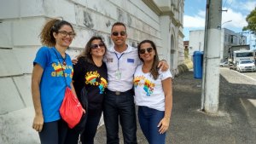
[[108,89],[120,92],[132,89],[133,74],[141,64],[137,49],[128,45],[124,52],[119,53],[111,47],[103,60],[108,68]]

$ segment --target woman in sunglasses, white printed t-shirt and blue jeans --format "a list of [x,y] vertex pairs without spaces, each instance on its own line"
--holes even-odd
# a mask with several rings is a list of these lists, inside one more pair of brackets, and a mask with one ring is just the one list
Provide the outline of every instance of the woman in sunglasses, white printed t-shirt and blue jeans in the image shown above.
[[154,42],[138,45],[143,64],[134,74],[138,119],[149,144],[164,144],[172,113],[172,74],[158,69],[159,58]]

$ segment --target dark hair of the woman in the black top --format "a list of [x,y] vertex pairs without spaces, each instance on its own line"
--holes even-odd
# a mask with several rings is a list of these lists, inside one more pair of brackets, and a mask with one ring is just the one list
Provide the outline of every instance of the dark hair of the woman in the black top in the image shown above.
[[[97,40],[101,40],[101,43],[104,44],[104,46],[105,46],[105,54],[106,54],[107,47],[106,47],[106,44],[103,42],[102,37],[93,36],[93,37],[90,37],[90,40],[86,43],[85,48],[84,48],[84,50],[82,51],[82,53],[78,56],[78,59],[83,58],[84,60],[87,60],[87,61],[90,62],[91,64],[94,64],[94,62],[93,62],[93,60],[92,60],[92,56],[91,56],[91,54],[90,54],[90,51],[91,51],[90,46],[91,46],[92,41],[94,41],[94,40],[96,40],[96,39],[97,39]],[[105,54],[104,54],[104,55],[105,55]]]

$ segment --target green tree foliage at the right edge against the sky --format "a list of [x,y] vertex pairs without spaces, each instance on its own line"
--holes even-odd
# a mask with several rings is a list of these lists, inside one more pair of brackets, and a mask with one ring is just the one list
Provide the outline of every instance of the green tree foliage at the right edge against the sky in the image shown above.
[[247,15],[247,26],[242,28],[242,31],[251,31],[253,34],[256,34],[256,7],[253,11]]

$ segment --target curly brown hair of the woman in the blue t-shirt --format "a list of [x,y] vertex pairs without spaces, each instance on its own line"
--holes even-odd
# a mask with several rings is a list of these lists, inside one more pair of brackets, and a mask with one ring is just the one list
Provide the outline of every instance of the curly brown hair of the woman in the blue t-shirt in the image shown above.
[[64,25],[70,26],[73,30],[73,26],[65,20],[57,20],[57,19],[49,20],[44,25],[44,28],[39,35],[41,43],[49,47],[54,47],[56,40],[55,40],[55,37],[53,36],[53,32],[58,33],[61,27]]

